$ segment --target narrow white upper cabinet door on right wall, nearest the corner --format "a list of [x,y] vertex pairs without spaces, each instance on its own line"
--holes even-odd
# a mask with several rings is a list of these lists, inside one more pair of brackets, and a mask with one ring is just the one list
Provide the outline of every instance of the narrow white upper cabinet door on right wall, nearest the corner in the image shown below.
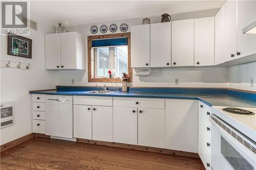
[[215,65],[223,63],[224,7],[215,16]]

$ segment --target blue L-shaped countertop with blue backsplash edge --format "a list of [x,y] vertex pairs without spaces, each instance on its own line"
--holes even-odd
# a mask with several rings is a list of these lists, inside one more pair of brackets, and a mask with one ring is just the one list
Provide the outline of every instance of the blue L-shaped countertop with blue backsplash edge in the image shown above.
[[[90,95],[90,96],[112,96],[130,98],[164,98],[164,99],[191,99],[200,100],[208,106],[230,106],[230,107],[256,107],[256,93],[234,92],[226,89],[186,89],[186,88],[153,88],[139,89],[131,88],[128,92],[114,92],[111,94],[90,94],[86,91],[99,90],[95,87],[84,88],[58,88],[58,90],[30,91],[32,94],[49,95]],[[241,96],[239,96],[241,95]],[[248,98],[248,99],[246,99]]]

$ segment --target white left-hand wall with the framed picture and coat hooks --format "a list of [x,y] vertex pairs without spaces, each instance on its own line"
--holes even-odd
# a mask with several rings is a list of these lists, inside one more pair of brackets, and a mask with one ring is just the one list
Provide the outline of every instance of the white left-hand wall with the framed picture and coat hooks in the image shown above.
[[52,32],[47,23],[38,22],[38,31],[31,30],[32,59],[7,55],[7,36],[1,36],[1,60],[31,63],[30,70],[1,68],[1,102],[14,102],[15,122],[1,129],[1,144],[32,133],[32,98],[29,90],[55,88],[57,72],[45,69],[45,34]]

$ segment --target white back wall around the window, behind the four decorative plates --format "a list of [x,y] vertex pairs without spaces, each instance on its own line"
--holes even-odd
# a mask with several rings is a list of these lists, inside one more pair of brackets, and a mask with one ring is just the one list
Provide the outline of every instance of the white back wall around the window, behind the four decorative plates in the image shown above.
[[[160,16],[149,17],[151,23],[161,21]],[[90,32],[90,28],[96,25],[98,29],[101,25],[110,26],[115,23],[119,26],[125,22],[129,26],[141,25],[143,18],[128,19],[122,21],[110,21],[103,23],[95,23],[91,25],[82,25],[71,28],[72,31],[77,31],[84,35],[87,42],[87,36],[95,35]],[[101,35],[100,31],[96,35]],[[111,34],[108,31],[106,34]],[[87,44],[86,50],[87,50]],[[86,52],[87,54],[87,52]],[[88,63],[87,63],[88,65]],[[136,77],[133,71],[133,86],[162,86],[162,87],[227,87],[228,74],[227,68],[224,67],[204,67],[204,68],[172,68],[172,69],[152,69],[152,74],[149,77]],[[180,84],[175,85],[174,80],[179,78]],[[94,86],[95,83],[88,82],[88,72],[86,71],[58,71],[58,85],[72,85],[71,79],[75,79],[75,85],[90,85]],[[109,86],[113,86],[108,84]],[[131,84],[130,84],[131,85]]]

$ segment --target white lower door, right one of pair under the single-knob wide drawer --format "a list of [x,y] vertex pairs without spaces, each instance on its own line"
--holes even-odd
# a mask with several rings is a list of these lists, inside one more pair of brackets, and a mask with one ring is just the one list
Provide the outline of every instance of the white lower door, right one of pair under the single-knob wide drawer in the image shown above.
[[138,108],[138,145],[164,148],[164,110]]

